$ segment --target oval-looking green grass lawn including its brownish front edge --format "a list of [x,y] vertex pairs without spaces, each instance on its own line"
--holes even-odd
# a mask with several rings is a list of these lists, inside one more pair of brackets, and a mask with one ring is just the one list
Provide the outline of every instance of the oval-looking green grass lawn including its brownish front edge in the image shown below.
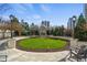
[[48,37],[31,37],[20,40],[17,43],[17,47],[24,51],[58,51],[63,50],[67,45],[66,41],[55,40]]

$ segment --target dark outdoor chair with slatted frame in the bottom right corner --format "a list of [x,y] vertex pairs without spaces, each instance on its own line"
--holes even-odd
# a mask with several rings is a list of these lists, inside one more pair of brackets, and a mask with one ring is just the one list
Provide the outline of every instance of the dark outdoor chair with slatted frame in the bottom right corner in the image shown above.
[[75,58],[77,62],[81,62],[84,59],[86,62],[87,58],[87,46],[81,45],[80,47],[70,48],[70,56],[69,58]]

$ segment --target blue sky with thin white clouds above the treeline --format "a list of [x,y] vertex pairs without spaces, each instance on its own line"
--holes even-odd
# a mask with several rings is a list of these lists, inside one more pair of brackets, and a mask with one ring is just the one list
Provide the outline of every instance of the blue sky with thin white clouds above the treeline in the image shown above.
[[50,21],[51,25],[67,26],[68,19],[83,13],[83,3],[0,3],[0,17],[9,19],[15,15],[31,24],[40,25],[42,20]]

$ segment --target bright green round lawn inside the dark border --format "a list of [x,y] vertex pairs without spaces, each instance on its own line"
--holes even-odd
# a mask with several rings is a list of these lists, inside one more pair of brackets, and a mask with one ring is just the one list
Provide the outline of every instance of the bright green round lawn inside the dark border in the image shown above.
[[18,45],[22,48],[62,48],[66,45],[66,41],[54,40],[47,37],[24,39],[19,41]]

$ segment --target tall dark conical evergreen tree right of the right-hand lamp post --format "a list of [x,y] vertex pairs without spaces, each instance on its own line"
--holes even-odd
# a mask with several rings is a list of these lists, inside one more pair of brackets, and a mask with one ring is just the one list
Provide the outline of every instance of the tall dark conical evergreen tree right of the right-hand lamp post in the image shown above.
[[75,37],[81,41],[87,40],[86,31],[84,31],[84,24],[86,24],[86,20],[83,14],[79,15],[76,28],[75,28]]

